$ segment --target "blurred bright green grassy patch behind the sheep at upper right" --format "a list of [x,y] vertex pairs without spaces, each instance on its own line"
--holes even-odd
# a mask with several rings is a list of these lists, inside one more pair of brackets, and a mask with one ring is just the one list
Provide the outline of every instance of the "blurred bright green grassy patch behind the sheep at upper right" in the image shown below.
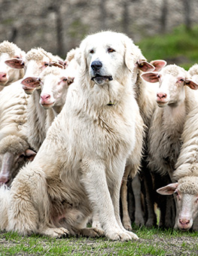
[[[160,34],[139,41],[142,53],[148,60],[167,59],[189,69],[198,62],[198,26],[187,31],[183,25],[178,26],[169,34]],[[178,61],[178,63],[177,63]]]

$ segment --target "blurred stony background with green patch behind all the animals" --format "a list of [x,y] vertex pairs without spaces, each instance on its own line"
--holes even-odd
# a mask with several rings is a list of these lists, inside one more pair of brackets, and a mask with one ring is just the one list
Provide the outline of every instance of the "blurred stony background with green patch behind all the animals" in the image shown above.
[[197,0],[0,0],[0,41],[65,59],[85,35],[126,33],[145,57],[188,69],[198,62]]

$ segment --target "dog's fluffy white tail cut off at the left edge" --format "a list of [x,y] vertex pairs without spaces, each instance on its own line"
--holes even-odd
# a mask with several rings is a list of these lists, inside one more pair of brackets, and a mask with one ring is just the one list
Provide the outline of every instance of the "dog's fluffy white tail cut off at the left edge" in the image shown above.
[[10,206],[10,190],[6,185],[0,187],[0,230],[8,228],[8,209]]

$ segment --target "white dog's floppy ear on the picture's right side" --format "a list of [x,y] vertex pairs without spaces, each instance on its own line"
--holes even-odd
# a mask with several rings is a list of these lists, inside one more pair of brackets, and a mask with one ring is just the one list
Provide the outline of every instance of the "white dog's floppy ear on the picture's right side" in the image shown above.
[[136,46],[136,44],[133,44],[132,39],[126,38],[124,44],[125,44],[125,64],[130,71],[133,71],[138,59],[145,59],[145,58],[142,55],[142,52],[139,49],[139,47]]

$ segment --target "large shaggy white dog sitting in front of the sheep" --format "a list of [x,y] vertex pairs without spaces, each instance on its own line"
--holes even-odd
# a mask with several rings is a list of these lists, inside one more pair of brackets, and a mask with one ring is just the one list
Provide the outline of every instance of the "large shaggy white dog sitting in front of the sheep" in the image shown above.
[[105,236],[138,239],[123,228],[120,185],[126,160],[139,168],[143,122],[134,98],[135,44],[117,32],[89,35],[80,70],[35,160],[0,190],[0,228],[29,235],[100,236],[87,228],[99,214]]

